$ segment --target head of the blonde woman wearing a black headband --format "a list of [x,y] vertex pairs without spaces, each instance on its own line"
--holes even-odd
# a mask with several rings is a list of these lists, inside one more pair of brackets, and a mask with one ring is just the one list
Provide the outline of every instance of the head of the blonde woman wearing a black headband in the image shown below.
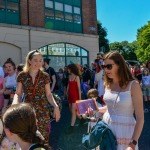
[[23,68],[25,72],[28,72],[30,69],[33,70],[42,70],[43,57],[38,50],[30,51],[26,57],[26,63]]

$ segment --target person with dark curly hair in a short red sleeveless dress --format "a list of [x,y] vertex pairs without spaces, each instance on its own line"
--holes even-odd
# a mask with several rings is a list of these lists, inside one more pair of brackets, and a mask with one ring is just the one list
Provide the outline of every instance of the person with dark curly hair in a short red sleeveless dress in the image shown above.
[[69,80],[68,80],[68,87],[67,87],[67,94],[68,94],[68,102],[71,116],[71,126],[66,131],[67,134],[70,134],[74,130],[74,124],[76,121],[76,100],[81,99],[81,90],[80,90],[80,78],[79,78],[79,69],[75,64],[68,65],[68,73],[69,73]]

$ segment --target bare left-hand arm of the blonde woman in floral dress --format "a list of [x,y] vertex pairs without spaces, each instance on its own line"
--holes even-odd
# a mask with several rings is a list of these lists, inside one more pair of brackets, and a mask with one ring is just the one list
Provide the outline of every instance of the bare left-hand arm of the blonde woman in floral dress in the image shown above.
[[21,96],[22,96],[22,83],[18,82],[17,83],[17,87],[16,87],[16,92],[15,92],[15,95],[14,95],[14,98],[13,98],[12,105],[13,104],[18,104],[20,99],[21,99]]

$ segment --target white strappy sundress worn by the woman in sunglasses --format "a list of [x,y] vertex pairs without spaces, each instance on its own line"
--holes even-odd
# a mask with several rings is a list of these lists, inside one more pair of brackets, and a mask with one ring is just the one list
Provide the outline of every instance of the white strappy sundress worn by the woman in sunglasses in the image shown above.
[[[103,120],[108,123],[117,138],[117,150],[125,150],[128,147],[136,124],[133,117],[134,107],[131,97],[133,82],[130,82],[128,91],[116,92],[105,89],[104,101],[108,111],[105,112]],[[138,146],[135,150],[138,150]]]

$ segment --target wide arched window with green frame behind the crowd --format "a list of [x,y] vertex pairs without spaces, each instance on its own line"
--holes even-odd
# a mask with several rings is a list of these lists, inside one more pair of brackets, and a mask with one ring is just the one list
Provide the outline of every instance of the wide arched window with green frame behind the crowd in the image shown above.
[[39,48],[43,57],[51,59],[50,66],[56,71],[64,66],[77,63],[89,64],[89,52],[82,47],[70,43],[56,43]]

